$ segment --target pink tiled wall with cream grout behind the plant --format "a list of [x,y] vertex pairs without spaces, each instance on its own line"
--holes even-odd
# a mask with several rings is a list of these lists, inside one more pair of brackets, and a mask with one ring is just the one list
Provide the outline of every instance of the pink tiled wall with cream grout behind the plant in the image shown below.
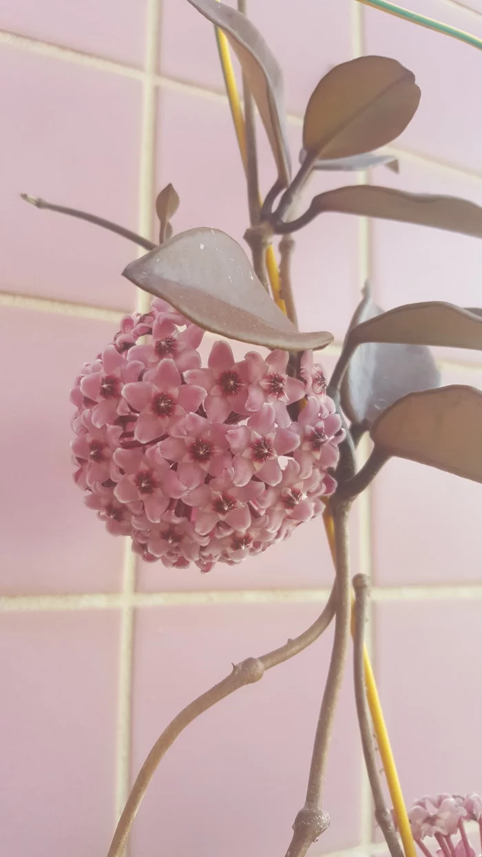
[[[480,0],[409,5],[482,35]],[[358,180],[482,203],[477,51],[354,0],[249,6],[283,60],[295,159],[318,77],[383,53],[414,70],[423,97],[392,150],[400,175]],[[120,277],[136,251],[19,193],[155,237],[153,198],[172,181],[176,229],[217,226],[241,240],[247,206],[211,27],[185,0],[3,0],[0,63],[0,847],[9,857],[103,857],[170,717],[230,662],[309,624],[332,571],[316,521],[238,569],[136,568],[71,480],[68,389],[140,299]],[[260,159],[266,189],[264,144]],[[301,325],[328,327],[339,344],[366,276],[387,309],[437,297],[480,305],[481,269],[474,239],[326,215],[298,240]],[[447,381],[482,387],[478,355],[442,357]],[[394,461],[354,512],[354,571],[372,576],[369,643],[408,800],[482,788],[481,498],[479,485]],[[130,857],[283,854],[329,648],[327,634],[187,731],[152,783]],[[332,825],[313,857],[379,848],[349,670],[325,806]]]

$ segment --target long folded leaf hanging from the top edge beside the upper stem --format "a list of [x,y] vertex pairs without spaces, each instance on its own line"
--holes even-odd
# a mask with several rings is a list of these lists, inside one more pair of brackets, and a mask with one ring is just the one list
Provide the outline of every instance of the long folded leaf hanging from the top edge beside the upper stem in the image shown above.
[[188,0],[211,24],[223,30],[253,93],[277,163],[283,188],[288,187],[291,162],[286,134],[283,72],[265,39],[246,15],[217,0]]

